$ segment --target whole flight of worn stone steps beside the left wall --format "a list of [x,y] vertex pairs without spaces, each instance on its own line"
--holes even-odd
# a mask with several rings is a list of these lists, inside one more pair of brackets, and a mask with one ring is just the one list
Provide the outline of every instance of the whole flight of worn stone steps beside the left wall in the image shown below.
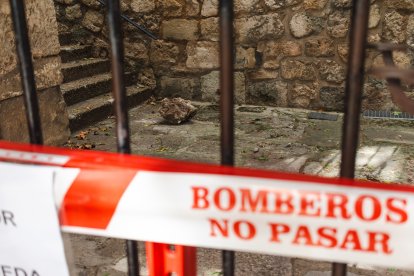
[[[71,131],[85,128],[113,114],[110,61],[92,57],[91,45],[79,45],[71,33],[59,35],[63,84],[61,91],[69,113]],[[125,73],[128,108],[147,100],[149,87],[136,85],[136,76]]]

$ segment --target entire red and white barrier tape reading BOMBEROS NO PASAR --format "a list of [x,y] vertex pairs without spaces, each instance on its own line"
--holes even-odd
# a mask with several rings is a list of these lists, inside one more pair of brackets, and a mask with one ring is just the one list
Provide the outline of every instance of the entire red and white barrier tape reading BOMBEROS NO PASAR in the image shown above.
[[5,142],[0,160],[75,169],[68,232],[414,268],[414,187]]

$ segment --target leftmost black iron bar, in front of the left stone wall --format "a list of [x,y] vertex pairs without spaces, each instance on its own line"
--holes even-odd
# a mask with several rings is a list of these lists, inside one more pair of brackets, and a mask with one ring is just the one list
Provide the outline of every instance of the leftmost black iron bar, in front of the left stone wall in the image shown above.
[[16,34],[16,49],[19,57],[30,143],[41,145],[43,144],[42,126],[40,123],[39,102],[36,94],[36,82],[27,31],[24,1],[10,0],[10,6],[12,10],[14,31]]

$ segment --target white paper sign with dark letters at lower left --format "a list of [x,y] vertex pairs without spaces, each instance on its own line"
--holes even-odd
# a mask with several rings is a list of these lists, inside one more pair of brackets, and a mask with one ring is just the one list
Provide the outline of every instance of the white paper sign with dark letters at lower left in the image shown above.
[[0,275],[69,275],[54,168],[0,163]]

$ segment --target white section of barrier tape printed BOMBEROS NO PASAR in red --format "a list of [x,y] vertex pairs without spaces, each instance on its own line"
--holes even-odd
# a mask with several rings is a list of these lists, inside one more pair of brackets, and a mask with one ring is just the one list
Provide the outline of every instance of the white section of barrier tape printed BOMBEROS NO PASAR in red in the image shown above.
[[413,193],[407,192],[141,171],[105,230],[64,229],[412,269],[413,207]]

